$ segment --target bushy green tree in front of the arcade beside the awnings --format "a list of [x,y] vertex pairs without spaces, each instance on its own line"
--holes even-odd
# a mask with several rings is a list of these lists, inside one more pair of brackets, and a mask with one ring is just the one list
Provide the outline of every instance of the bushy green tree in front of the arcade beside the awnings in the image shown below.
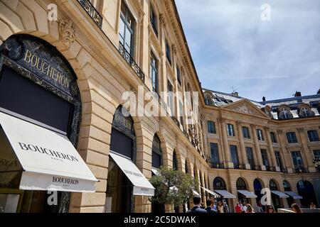
[[191,175],[166,167],[161,167],[159,174],[152,176],[149,181],[155,188],[150,201],[159,204],[185,204],[193,197],[193,190],[198,189],[197,180]]

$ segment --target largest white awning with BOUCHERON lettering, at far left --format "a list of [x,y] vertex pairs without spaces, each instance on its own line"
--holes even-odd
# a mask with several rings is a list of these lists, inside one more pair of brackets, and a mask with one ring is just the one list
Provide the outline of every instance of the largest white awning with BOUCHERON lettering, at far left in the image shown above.
[[95,192],[97,179],[64,135],[2,112],[0,124],[23,169],[19,189]]

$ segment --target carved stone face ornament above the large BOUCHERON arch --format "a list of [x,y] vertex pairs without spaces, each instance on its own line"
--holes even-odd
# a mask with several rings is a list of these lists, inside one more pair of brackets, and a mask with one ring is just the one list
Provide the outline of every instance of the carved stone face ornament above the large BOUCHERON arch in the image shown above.
[[75,42],[75,26],[73,21],[60,20],[59,22],[59,33],[60,40],[65,45],[66,48],[69,48],[70,45]]

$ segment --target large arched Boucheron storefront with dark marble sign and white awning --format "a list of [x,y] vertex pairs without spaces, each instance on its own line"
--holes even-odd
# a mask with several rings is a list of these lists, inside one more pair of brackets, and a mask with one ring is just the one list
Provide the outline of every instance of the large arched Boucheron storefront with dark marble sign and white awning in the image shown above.
[[31,35],[8,38],[0,47],[0,212],[68,212],[70,192],[95,192],[75,150],[80,121],[77,77],[63,55]]

